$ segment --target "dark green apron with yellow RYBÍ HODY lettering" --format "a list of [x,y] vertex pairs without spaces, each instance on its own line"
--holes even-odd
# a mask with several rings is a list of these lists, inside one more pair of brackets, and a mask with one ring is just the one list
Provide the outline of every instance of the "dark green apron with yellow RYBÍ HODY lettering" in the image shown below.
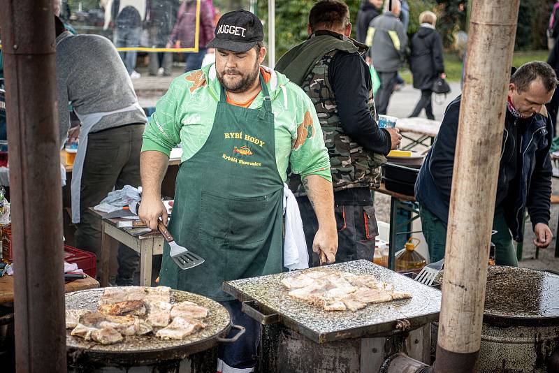
[[165,244],[161,285],[223,301],[233,299],[223,281],[282,272],[283,181],[262,75],[260,82],[259,110],[228,104],[222,87],[208,140],[180,166],[169,231],[205,262],[180,270]]

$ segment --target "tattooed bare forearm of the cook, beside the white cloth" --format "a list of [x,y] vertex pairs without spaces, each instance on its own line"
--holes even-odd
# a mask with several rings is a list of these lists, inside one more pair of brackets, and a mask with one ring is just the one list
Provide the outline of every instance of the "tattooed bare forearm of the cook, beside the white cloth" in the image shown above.
[[303,177],[303,186],[314,213],[317,214],[319,228],[334,228],[334,192],[332,183],[319,175]]

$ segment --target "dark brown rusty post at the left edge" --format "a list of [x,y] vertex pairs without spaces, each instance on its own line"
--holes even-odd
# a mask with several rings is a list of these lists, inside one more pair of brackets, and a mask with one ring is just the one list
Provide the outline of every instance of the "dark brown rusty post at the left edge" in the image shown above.
[[16,371],[64,373],[62,193],[52,0],[1,3]]

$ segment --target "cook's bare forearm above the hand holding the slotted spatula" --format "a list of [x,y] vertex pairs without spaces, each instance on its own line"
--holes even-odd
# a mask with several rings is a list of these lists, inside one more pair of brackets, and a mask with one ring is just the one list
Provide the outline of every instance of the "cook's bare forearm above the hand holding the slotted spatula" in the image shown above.
[[165,176],[169,157],[155,150],[140,154],[140,175],[142,177],[142,193],[145,196],[161,196],[161,182]]

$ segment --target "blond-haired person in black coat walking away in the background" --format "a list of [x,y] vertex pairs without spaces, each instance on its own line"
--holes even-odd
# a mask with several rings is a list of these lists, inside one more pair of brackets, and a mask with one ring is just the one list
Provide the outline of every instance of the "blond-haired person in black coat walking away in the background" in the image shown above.
[[428,119],[435,119],[433,115],[433,82],[437,77],[444,78],[444,61],[442,59],[441,36],[435,31],[437,16],[433,12],[423,12],[419,15],[419,31],[412,38],[412,57],[409,65],[414,77],[414,88],[421,89],[421,98],[410,117],[418,117],[425,109]]

